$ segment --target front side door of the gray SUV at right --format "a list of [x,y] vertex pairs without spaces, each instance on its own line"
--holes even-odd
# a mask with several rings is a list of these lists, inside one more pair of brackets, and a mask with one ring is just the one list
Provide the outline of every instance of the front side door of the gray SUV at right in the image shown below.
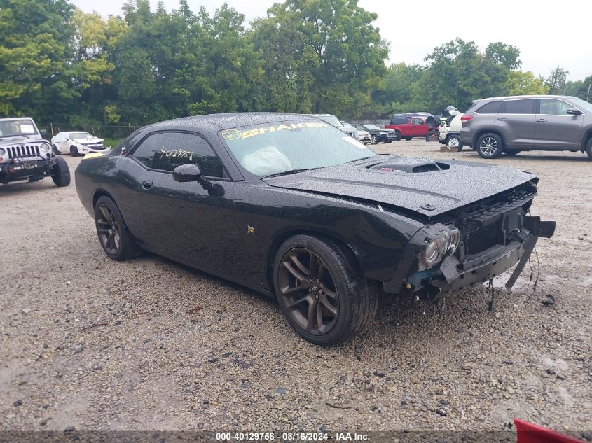
[[579,149],[584,115],[570,115],[572,104],[560,99],[538,100],[535,118],[535,148]]

